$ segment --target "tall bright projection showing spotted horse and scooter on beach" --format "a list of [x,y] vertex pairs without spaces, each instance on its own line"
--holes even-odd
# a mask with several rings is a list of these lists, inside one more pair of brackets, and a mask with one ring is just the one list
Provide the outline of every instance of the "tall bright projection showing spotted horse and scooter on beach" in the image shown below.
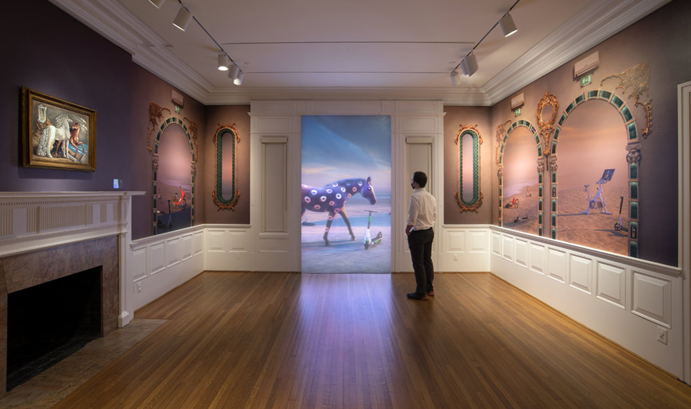
[[391,117],[302,117],[302,272],[391,272]]

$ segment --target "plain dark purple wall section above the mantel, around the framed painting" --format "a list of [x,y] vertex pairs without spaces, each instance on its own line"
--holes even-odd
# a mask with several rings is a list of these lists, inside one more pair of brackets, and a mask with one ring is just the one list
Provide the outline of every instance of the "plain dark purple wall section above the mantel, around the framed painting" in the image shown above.
[[[48,1],[12,3],[0,25],[0,181],[2,191],[129,189],[131,56]],[[56,28],[59,27],[59,35]],[[19,139],[21,86],[97,111],[96,171],[23,168]]]

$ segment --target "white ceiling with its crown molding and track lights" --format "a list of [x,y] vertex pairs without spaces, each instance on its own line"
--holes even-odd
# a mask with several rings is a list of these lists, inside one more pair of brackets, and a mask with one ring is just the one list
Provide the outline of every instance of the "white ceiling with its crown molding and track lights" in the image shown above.
[[[670,0],[50,0],[205,104],[252,99],[438,99],[491,105]],[[203,26],[203,29],[202,29]],[[206,30],[206,32],[205,32]],[[208,34],[207,34],[208,32]],[[480,69],[449,73],[473,46]],[[211,38],[213,37],[213,39]],[[218,46],[216,43],[218,43]],[[244,72],[217,69],[220,47]]]

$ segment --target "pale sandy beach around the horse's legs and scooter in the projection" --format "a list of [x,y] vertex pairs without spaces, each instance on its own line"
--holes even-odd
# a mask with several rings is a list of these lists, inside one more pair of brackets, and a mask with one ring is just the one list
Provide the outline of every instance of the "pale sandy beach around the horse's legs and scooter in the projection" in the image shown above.
[[[365,249],[368,212],[374,210],[370,237],[381,232],[381,242]],[[391,272],[391,202],[377,199],[370,205],[366,199],[352,197],[345,206],[355,240],[348,226],[337,215],[329,231],[330,244],[324,244],[324,229],[328,213],[305,212],[302,217],[302,272]],[[305,223],[308,226],[305,226]],[[312,223],[314,226],[311,226]]]

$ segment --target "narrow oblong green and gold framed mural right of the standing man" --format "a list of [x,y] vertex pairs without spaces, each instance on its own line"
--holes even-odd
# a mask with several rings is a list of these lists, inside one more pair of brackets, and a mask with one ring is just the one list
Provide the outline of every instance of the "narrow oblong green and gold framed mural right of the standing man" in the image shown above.
[[453,197],[461,212],[477,212],[482,206],[480,192],[480,145],[482,136],[475,126],[460,124],[453,142],[458,145],[458,192]]

